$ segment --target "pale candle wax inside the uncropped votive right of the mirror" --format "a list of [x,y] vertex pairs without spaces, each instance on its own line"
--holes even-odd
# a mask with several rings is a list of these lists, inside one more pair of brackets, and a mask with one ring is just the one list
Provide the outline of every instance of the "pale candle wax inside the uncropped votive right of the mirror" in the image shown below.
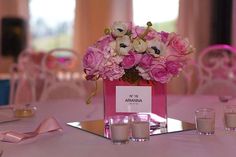
[[197,118],[197,130],[202,134],[213,134],[215,120],[213,118]]

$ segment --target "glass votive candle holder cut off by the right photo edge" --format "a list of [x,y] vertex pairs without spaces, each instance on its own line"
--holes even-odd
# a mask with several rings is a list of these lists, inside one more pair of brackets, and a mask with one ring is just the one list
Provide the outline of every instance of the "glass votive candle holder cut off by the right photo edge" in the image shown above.
[[224,125],[226,130],[236,130],[236,105],[224,106]]

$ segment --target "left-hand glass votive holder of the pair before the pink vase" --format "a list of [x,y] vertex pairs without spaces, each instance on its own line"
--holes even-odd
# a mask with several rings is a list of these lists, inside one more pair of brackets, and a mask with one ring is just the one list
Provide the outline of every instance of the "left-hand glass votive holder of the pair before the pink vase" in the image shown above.
[[129,116],[117,115],[109,117],[110,138],[114,144],[126,144],[129,142],[130,125]]

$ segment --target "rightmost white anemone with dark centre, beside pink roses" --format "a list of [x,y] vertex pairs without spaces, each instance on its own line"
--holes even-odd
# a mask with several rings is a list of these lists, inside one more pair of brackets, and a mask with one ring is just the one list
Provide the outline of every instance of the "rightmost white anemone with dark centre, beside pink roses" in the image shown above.
[[154,57],[160,57],[166,54],[166,45],[159,38],[147,41],[147,45],[147,51]]

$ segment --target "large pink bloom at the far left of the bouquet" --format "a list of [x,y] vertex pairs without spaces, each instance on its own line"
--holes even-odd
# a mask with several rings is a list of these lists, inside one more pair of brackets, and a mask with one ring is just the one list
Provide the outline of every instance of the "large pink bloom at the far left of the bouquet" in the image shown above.
[[83,58],[83,66],[88,75],[93,75],[103,61],[103,53],[101,50],[89,47]]

